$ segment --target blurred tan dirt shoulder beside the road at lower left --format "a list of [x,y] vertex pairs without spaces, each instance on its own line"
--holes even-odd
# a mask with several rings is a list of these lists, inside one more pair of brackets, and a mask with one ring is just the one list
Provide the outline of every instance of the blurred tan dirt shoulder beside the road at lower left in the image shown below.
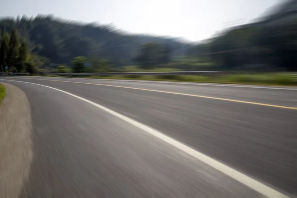
[[0,104],[0,198],[17,198],[33,155],[31,109],[22,90],[1,84],[6,96]]

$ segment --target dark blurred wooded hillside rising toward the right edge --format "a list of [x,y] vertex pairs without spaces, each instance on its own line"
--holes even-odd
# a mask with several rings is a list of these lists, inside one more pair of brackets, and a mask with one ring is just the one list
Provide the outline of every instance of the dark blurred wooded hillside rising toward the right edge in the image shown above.
[[189,53],[208,58],[223,70],[296,71],[297,14],[286,12],[288,6],[261,21],[227,29]]

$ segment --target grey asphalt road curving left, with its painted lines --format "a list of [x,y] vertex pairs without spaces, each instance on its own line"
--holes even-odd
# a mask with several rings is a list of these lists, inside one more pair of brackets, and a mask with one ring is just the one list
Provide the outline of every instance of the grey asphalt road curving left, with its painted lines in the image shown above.
[[49,77],[0,81],[21,88],[32,107],[34,160],[21,197],[265,194],[254,182],[297,196],[296,88]]

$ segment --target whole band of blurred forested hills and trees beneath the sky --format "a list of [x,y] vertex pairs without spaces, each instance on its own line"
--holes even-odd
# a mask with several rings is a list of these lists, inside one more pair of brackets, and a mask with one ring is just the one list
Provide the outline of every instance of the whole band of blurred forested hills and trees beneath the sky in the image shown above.
[[52,15],[0,19],[0,71],[107,72],[131,65],[146,70],[295,71],[296,61],[295,13],[228,28],[198,43],[131,35]]

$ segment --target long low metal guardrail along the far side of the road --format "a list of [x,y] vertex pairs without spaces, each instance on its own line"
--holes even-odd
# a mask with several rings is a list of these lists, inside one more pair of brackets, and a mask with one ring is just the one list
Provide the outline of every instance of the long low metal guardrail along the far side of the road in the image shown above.
[[210,75],[221,73],[220,71],[172,71],[172,72],[100,72],[100,73],[48,73],[45,75],[73,75],[73,76],[120,76],[120,75],[143,75],[143,76],[162,76],[162,75]]

